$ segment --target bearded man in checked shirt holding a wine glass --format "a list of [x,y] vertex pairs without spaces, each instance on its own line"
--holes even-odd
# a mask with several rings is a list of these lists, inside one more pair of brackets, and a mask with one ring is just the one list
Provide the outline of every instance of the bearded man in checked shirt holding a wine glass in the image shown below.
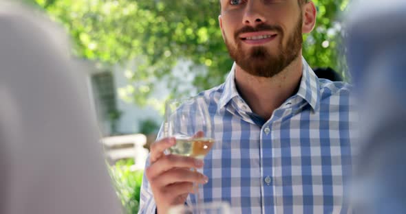
[[140,213],[193,204],[192,182],[204,184],[204,202],[229,202],[232,213],[348,213],[350,88],[319,80],[301,56],[302,33],[316,21],[314,3],[220,3],[220,29],[235,64],[224,84],[200,94],[216,143],[204,163],[164,155],[174,139],[151,145]]

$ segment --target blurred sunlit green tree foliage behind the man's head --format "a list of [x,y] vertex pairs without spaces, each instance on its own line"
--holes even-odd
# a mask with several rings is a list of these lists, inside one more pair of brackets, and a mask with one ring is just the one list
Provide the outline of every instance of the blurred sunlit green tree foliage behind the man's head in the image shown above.
[[[120,93],[138,104],[148,104],[157,80],[164,79],[172,95],[182,93],[179,78],[171,73],[179,60],[193,62],[192,84],[198,91],[220,84],[231,69],[218,27],[218,0],[35,1],[67,28],[77,56],[107,64],[135,60],[136,71],[126,71],[131,86]],[[312,67],[332,67],[345,79],[341,23],[335,17],[348,1],[314,0],[317,26],[303,45]]]

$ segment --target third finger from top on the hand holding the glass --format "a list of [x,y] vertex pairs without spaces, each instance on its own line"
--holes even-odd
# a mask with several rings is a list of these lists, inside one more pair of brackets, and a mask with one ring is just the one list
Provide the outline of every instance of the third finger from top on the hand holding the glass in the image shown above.
[[191,171],[190,169],[171,169],[153,179],[153,183],[156,187],[166,187],[167,185],[172,185],[177,182],[206,184],[208,181],[209,178],[207,178],[207,176],[197,171]]

